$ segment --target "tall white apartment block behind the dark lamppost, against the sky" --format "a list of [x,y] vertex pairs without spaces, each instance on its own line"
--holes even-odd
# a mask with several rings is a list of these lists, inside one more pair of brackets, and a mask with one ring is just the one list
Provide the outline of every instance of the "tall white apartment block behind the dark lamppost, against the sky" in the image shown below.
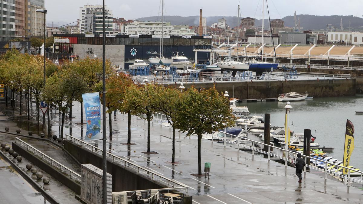
[[[105,6],[105,32],[112,31],[112,10]],[[84,5],[79,8],[79,33],[102,34],[102,5]]]

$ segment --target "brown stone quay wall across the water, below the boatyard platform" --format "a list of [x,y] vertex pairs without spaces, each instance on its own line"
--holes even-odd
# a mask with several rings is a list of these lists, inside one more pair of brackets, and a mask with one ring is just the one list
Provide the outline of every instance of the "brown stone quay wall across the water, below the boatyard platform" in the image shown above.
[[[362,79],[363,80],[363,79]],[[184,82],[185,88],[191,86],[197,89],[213,87],[213,82]],[[166,86],[179,85],[171,84]],[[305,92],[314,97],[350,96],[356,93],[355,79],[318,79],[318,80],[287,80],[287,81],[239,81],[216,82],[220,92],[228,91],[231,97],[239,99],[277,98],[278,94]]]

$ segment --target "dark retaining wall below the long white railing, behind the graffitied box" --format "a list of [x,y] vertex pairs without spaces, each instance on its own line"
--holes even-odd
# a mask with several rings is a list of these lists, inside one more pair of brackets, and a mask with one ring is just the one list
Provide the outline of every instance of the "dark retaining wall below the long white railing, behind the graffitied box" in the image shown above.
[[[102,169],[101,155],[91,152],[86,148],[82,148],[69,140],[63,140],[63,144],[65,150],[74,156],[81,164],[92,164]],[[166,186],[158,181],[151,180],[147,176],[138,174],[137,171],[132,168],[125,168],[121,163],[112,162],[111,158],[107,158],[107,172],[112,175],[112,192],[166,188]]]

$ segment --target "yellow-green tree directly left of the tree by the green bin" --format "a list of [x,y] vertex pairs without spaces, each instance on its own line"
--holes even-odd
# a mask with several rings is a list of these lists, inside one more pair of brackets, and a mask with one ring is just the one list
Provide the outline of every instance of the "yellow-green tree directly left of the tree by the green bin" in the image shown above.
[[159,110],[166,115],[168,123],[173,128],[171,163],[175,163],[175,124],[178,123],[176,115],[180,107],[181,93],[170,86],[160,85],[155,87],[155,94],[152,97],[152,101],[157,103]]

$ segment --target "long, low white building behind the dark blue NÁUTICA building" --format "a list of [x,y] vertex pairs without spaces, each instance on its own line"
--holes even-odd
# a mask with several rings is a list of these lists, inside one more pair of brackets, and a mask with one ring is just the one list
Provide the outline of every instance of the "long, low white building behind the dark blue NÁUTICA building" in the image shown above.
[[[162,28],[162,25],[164,28]],[[188,25],[171,25],[170,22],[144,22],[135,21],[131,24],[122,25],[121,32],[127,34],[145,34],[145,35],[189,35],[194,36],[196,33],[194,29],[189,29]]]

